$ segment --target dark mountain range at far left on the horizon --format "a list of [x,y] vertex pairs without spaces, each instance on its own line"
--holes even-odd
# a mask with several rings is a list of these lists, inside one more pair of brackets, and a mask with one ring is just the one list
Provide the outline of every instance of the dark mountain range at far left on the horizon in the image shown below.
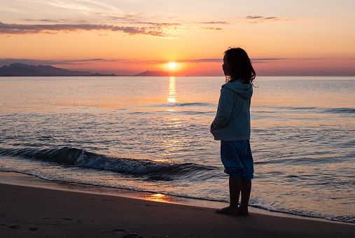
[[90,73],[90,71],[71,71],[50,65],[10,64],[0,68],[0,76],[116,76],[115,74]]

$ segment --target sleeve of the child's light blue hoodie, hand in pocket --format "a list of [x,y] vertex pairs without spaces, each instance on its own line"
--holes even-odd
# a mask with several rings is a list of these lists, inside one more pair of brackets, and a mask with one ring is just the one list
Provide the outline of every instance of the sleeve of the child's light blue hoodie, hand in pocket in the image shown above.
[[224,127],[228,123],[230,116],[232,115],[234,94],[235,93],[228,89],[228,87],[222,87],[216,118],[214,118],[212,123],[215,129]]

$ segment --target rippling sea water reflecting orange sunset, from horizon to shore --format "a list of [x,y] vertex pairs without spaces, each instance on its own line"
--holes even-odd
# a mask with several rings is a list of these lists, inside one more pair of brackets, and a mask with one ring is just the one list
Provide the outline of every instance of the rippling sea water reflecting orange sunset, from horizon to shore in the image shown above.
[[[228,202],[223,77],[0,77],[0,171]],[[258,77],[250,205],[355,223],[355,77]],[[1,179],[1,178],[0,178]]]

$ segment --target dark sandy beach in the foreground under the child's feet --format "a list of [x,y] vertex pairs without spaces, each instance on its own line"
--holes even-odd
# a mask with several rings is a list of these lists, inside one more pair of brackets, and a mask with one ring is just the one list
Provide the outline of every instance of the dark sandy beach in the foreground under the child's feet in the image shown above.
[[0,237],[354,237],[355,225],[0,183]]

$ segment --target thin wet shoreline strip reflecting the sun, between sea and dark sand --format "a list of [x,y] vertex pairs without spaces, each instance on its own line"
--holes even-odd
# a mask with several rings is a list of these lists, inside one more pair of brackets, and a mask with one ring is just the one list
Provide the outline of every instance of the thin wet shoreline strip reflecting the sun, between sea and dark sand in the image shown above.
[[[137,190],[130,190],[125,188],[111,188],[106,186],[95,186],[83,183],[53,181],[48,179],[41,179],[38,176],[30,174],[22,174],[20,172],[4,172],[0,171],[0,184],[8,184],[13,186],[25,186],[33,188],[44,188],[50,190],[62,190],[74,193],[90,193],[96,195],[110,195],[117,197],[127,197],[137,200],[148,200],[154,202],[163,202],[170,204],[181,204],[186,206],[204,207],[209,209],[219,209],[221,207],[228,207],[228,202],[218,202],[213,200],[203,200],[192,197],[179,197],[174,195],[165,195],[153,192],[142,192]],[[316,218],[312,216],[302,216],[298,214],[288,214],[282,211],[270,211],[249,205],[249,212],[254,214],[263,214],[267,216],[279,216],[286,218],[308,219],[312,221],[321,221],[326,223],[346,223],[342,221],[333,221],[326,218]],[[355,225],[355,224],[354,224]]]

